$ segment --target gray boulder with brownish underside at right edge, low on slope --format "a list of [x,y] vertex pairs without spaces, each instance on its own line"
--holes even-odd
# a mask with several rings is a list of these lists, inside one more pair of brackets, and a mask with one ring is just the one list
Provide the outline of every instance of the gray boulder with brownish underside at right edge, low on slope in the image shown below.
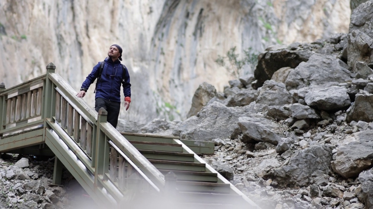
[[351,142],[339,147],[332,161],[333,171],[346,179],[358,177],[361,171],[373,165],[372,147],[373,141]]

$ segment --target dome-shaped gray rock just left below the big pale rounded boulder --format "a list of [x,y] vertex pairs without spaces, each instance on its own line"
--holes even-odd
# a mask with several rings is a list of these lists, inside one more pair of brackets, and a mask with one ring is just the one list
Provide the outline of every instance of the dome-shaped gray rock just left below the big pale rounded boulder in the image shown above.
[[294,103],[292,96],[285,89],[285,84],[267,80],[258,89],[256,103],[268,106],[283,106]]

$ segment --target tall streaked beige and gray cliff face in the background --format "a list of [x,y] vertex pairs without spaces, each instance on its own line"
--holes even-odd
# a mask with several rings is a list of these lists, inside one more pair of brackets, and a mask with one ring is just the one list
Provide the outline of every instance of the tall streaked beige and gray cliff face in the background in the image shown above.
[[[232,79],[217,55],[347,32],[350,15],[348,0],[0,0],[0,82],[15,86],[53,62],[79,90],[116,43],[132,84],[121,118],[184,119],[200,83],[222,91]],[[93,89],[85,97],[92,106]]]

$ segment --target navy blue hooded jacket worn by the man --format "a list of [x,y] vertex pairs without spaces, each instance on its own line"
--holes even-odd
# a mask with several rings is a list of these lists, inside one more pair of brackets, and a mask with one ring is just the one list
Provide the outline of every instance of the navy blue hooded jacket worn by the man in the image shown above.
[[[129,83],[129,73],[126,67],[123,73],[122,64],[119,60],[113,62],[109,57],[105,58],[101,79],[98,79],[95,98],[103,98],[113,102],[120,102],[120,84],[123,85],[125,97],[131,97],[131,84]],[[100,62],[93,67],[92,72],[87,76],[81,88],[87,89],[98,76]],[[123,78],[122,78],[123,75]]]

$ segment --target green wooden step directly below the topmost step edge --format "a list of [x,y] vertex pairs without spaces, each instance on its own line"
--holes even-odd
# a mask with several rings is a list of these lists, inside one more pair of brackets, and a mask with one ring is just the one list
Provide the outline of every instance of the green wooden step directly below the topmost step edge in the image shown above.
[[166,151],[166,152],[183,152],[181,144],[169,144],[159,142],[138,142],[129,141],[136,149]]

